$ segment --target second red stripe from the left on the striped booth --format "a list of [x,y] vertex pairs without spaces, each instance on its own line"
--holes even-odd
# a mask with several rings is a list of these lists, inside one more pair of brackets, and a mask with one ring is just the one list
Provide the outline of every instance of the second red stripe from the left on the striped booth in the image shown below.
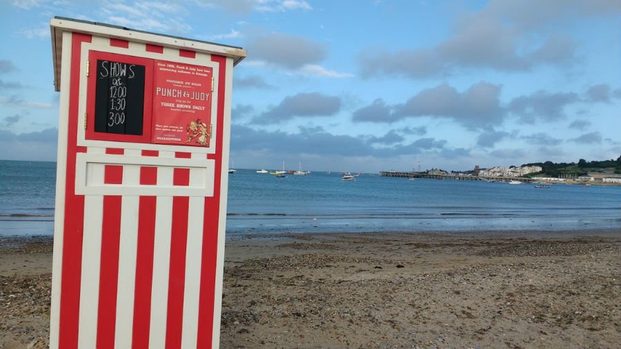
[[[106,150],[122,154],[119,150]],[[103,183],[120,184],[123,166],[107,165]],[[99,308],[97,310],[97,348],[114,348],[119,283],[119,242],[121,240],[121,196],[103,197],[101,224],[101,266],[99,273]]]

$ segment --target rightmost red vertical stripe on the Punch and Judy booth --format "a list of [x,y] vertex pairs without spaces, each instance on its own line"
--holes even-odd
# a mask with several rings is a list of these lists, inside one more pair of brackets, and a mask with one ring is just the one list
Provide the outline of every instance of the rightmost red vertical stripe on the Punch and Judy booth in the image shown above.
[[[217,124],[224,126],[224,81],[226,80],[226,57],[212,55],[211,60],[218,62],[218,101]],[[215,272],[218,252],[218,224],[220,212],[220,186],[222,173],[222,132],[217,128],[216,152],[208,155],[215,160],[215,180],[213,197],[205,198],[203,216],[203,252],[201,261],[201,293],[199,296],[199,320],[197,348],[211,348],[213,341],[213,310],[215,301]],[[224,234],[224,232],[222,232]]]

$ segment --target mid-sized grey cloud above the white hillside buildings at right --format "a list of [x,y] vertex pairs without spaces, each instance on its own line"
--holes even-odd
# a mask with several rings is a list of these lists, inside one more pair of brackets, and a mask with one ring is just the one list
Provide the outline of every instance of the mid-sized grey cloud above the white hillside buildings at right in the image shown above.
[[550,93],[538,90],[528,96],[511,100],[507,111],[517,115],[522,123],[535,123],[536,119],[557,121],[566,117],[566,106],[578,101],[578,94],[573,92]]

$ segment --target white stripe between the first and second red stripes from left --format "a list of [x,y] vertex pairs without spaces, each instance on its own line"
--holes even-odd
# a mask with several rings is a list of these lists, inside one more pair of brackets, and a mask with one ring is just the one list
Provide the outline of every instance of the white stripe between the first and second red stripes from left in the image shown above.
[[[101,154],[103,148],[88,148],[87,152]],[[93,183],[103,183],[106,166],[97,164],[88,172]],[[76,178],[76,181],[81,179]],[[82,179],[83,180],[83,179]],[[101,230],[103,196],[84,196],[84,233],[82,237],[82,267],[80,277],[80,313],[78,348],[97,345],[97,310],[99,309],[99,270],[101,263]]]

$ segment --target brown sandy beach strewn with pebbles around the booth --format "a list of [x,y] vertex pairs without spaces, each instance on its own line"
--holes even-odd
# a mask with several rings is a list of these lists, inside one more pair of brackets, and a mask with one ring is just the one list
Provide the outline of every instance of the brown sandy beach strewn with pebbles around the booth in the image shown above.
[[[52,241],[0,246],[0,348],[46,348]],[[619,348],[621,232],[236,237],[221,320],[221,348]]]

